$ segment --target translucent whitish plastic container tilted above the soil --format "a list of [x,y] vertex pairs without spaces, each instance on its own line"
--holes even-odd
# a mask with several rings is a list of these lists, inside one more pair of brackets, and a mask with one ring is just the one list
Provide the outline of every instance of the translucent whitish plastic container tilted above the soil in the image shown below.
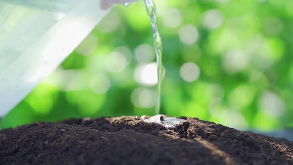
[[113,4],[135,0],[1,0],[0,117],[73,51]]

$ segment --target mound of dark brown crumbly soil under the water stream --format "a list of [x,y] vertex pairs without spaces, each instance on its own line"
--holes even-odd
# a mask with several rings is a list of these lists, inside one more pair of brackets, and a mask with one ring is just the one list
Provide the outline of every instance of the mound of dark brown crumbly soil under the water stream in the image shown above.
[[293,142],[197,118],[73,119],[0,131],[0,165],[293,165]]

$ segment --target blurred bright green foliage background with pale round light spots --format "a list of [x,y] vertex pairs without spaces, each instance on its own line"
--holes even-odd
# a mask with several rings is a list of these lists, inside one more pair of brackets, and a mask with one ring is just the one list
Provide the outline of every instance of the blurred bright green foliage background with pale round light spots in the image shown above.
[[[161,114],[241,130],[293,127],[292,0],[155,0]],[[116,6],[0,129],[69,118],[154,115],[156,64],[144,3]]]

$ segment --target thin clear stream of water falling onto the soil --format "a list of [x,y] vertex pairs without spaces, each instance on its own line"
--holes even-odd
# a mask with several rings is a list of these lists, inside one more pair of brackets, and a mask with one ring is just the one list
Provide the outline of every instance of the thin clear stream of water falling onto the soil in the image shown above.
[[158,83],[157,83],[157,91],[156,91],[156,106],[155,106],[155,114],[159,114],[160,106],[161,106],[161,88],[162,88],[162,79],[163,79],[163,59],[162,59],[162,39],[158,30],[158,19],[157,19],[157,11],[156,6],[153,0],[145,0],[145,6],[147,9],[147,13],[149,19],[151,21],[151,26],[153,29],[153,38],[154,38],[154,48],[157,59],[158,66]]

